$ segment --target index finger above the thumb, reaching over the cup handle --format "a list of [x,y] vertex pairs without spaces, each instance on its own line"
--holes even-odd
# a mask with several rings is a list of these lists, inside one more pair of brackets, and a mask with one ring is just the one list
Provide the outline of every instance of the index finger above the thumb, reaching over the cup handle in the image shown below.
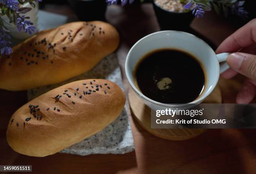
[[256,43],[256,19],[251,20],[226,38],[217,48],[216,53],[236,52],[253,43]]

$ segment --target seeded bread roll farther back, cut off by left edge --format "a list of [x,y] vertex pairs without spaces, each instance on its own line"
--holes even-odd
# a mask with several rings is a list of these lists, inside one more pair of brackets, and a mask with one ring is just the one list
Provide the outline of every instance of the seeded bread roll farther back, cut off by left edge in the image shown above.
[[0,57],[0,88],[19,91],[65,81],[89,71],[118,43],[117,30],[100,21],[41,31]]

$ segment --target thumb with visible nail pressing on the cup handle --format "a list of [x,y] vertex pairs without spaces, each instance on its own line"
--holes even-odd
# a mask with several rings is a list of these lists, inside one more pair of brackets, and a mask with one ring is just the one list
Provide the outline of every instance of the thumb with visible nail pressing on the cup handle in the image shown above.
[[227,62],[238,73],[256,81],[256,55],[232,53],[228,56]]

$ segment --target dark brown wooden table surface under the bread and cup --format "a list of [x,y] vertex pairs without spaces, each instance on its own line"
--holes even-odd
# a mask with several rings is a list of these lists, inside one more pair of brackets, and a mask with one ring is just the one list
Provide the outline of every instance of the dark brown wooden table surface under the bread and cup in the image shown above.
[[[74,16],[68,6],[47,5],[46,10]],[[129,48],[139,38],[159,30],[151,4],[128,8],[111,7],[107,19],[120,32],[117,54],[124,76],[124,61]],[[219,45],[238,26],[214,13],[195,19],[192,28]],[[223,101],[234,103],[242,76],[220,79]],[[26,103],[26,91],[0,90],[0,165],[33,165],[34,174],[256,174],[256,130],[210,129],[187,141],[159,139],[139,126],[132,117],[135,151],[123,155],[54,154],[44,158],[14,152],[5,138],[10,116]],[[254,100],[255,102],[255,100]]]

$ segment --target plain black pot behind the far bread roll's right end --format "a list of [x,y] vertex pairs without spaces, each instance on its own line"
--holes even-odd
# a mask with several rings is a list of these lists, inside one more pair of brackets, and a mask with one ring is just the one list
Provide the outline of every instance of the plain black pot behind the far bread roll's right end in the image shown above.
[[105,0],[68,0],[79,20],[105,21],[107,3]]

